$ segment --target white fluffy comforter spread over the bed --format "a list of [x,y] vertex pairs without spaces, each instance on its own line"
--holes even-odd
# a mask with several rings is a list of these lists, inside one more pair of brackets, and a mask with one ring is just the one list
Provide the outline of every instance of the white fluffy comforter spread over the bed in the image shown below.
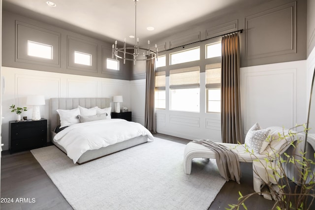
[[137,122],[110,119],[73,124],[57,133],[54,141],[76,163],[87,150],[97,150],[141,135],[154,140],[150,131]]

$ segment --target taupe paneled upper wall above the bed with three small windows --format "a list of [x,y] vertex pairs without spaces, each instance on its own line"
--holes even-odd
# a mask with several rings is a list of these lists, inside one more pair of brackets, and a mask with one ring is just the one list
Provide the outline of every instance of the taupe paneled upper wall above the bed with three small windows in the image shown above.
[[[29,38],[49,43],[54,48],[53,60],[31,58],[26,55],[25,41]],[[73,51],[92,55],[92,66],[78,65]],[[93,77],[129,80],[132,63],[120,62],[120,70],[106,69],[106,58],[111,58],[112,44],[88,36],[54,27],[15,13],[3,11],[2,65],[39,71],[76,74]]]

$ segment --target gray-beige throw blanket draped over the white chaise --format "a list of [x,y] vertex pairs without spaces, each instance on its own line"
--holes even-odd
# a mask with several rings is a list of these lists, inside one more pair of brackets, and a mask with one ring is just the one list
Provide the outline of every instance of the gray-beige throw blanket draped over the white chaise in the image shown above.
[[220,175],[226,181],[234,180],[240,183],[241,171],[238,154],[211,140],[196,139],[192,142],[201,144],[215,152]]

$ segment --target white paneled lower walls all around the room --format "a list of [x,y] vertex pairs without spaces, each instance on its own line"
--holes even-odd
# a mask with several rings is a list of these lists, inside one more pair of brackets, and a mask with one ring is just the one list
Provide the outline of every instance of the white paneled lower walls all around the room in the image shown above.
[[[307,61],[301,60],[240,69],[243,139],[247,130],[256,121],[262,127],[273,125],[290,127],[295,123],[306,122],[309,97],[306,92],[309,91],[307,87],[310,87],[306,84],[310,80],[311,72],[313,74],[315,55],[309,59],[308,67]],[[2,97],[4,150],[8,149],[8,121],[15,120],[15,115],[10,113],[8,108],[12,104],[26,106],[26,97],[29,94],[45,95],[46,105],[40,108],[42,117],[46,119],[49,119],[49,99],[52,97],[123,95],[124,102],[121,105],[132,111],[134,121],[144,124],[145,80],[115,80],[9,67],[2,67],[1,73],[5,78]],[[166,77],[166,83],[169,82],[168,79]],[[205,74],[201,73],[201,86],[204,85],[204,80]],[[169,98],[168,91],[166,88],[166,98]],[[205,91],[200,91],[200,94],[205,94]],[[159,133],[191,140],[204,138],[221,141],[220,114],[205,113],[203,98],[200,99],[200,113],[168,109],[169,104],[166,104],[165,110],[158,109],[156,112]],[[31,118],[32,108],[30,107],[22,116]]]

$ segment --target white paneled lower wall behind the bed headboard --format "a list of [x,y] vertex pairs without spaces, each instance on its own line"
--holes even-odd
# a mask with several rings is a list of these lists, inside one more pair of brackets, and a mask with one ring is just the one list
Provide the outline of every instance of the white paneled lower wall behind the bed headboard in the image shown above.
[[[53,72],[35,71],[20,68],[2,67],[5,88],[2,95],[2,143],[3,150],[8,150],[8,121],[15,120],[9,106],[28,107],[22,116],[32,118],[32,107],[26,104],[26,97],[32,94],[44,95],[46,105],[40,106],[41,117],[48,119],[50,98],[55,97],[109,97],[123,95],[121,106],[130,107],[130,81],[99,77],[88,77]],[[111,103],[111,107],[114,107]],[[131,107],[130,107],[131,108]],[[130,109],[132,111],[132,109]]]

